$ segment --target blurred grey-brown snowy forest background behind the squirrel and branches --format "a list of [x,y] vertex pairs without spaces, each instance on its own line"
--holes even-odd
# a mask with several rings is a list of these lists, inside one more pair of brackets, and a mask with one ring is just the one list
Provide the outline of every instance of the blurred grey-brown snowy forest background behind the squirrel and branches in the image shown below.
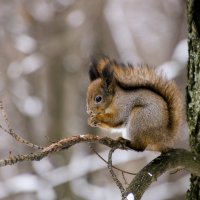
[[[186,38],[185,0],[1,0],[0,100],[14,130],[41,146],[71,135],[106,135],[87,125],[90,56],[157,66],[184,93]],[[10,151],[32,151],[0,134],[1,159]],[[187,147],[187,140],[184,125],[177,146]],[[108,149],[95,148],[106,158]],[[137,172],[157,155],[117,151],[114,164]],[[144,200],[184,199],[188,185],[186,172],[168,173]],[[117,200],[120,192],[106,164],[81,144],[39,162],[0,168],[0,199]]]

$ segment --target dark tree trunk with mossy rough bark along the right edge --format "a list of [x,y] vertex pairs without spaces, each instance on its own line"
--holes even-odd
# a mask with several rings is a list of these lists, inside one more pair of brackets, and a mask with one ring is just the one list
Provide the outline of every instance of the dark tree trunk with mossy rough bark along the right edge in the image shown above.
[[[187,117],[191,150],[200,155],[200,1],[188,0]],[[191,175],[188,200],[200,200],[200,177]]]

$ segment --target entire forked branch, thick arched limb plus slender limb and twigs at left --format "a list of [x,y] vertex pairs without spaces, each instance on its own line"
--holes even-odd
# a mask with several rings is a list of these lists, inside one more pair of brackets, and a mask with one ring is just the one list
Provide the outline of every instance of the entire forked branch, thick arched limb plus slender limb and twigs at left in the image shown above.
[[1,101],[0,110],[7,125],[7,129],[4,128],[2,125],[0,125],[0,129],[10,134],[18,142],[21,142],[22,144],[37,149],[37,152],[31,154],[16,156],[9,155],[7,159],[0,160],[0,167],[13,165],[15,163],[23,161],[38,161],[48,155],[51,155],[54,152],[66,150],[78,143],[99,143],[111,148],[108,156],[108,168],[113,180],[115,181],[116,185],[121,191],[123,200],[127,199],[127,197],[131,197],[131,199],[134,198],[135,200],[140,200],[146,189],[150,186],[150,184],[156,181],[159,176],[161,176],[168,170],[183,168],[190,171],[193,174],[200,176],[200,157],[198,157],[197,154],[194,154],[184,149],[171,149],[168,152],[158,156],[152,162],[146,165],[135,176],[135,178],[133,178],[128,187],[125,188],[118,180],[116,174],[112,169],[112,154],[116,149],[134,150],[134,146],[131,145],[131,142],[129,140],[123,138],[113,140],[109,137],[101,137],[86,134],[71,136],[68,138],[64,138],[58,142],[52,143],[47,147],[40,147],[23,139],[21,136],[14,132],[14,130],[9,124],[8,118],[6,116]]

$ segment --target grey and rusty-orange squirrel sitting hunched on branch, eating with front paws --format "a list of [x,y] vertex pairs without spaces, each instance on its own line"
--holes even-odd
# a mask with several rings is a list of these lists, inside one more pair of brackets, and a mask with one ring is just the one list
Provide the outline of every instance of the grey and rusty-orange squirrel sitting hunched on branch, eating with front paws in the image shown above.
[[136,151],[166,152],[179,136],[183,98],[174,81],[149,66],[93,59],[87,91],[88,124],[120,131]]

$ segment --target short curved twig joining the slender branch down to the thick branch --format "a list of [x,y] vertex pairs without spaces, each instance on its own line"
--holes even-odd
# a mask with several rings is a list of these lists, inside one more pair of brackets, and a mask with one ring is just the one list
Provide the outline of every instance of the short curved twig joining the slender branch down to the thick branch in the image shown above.
[[123,195],[125,189],[122,185],[122,183],[119,181],[119,179],[117,178],[117,175],[115,174],[115,172],[113,171],[112,168],[112,154],[114,153],[114,151],[116,150],[116,147],[111,148],[111,150],[109,151],[108,154],[108,169],[110,171],[110,174],[112,176],[113,181],[116,183],[117,187],[120,189],[121,194]]

